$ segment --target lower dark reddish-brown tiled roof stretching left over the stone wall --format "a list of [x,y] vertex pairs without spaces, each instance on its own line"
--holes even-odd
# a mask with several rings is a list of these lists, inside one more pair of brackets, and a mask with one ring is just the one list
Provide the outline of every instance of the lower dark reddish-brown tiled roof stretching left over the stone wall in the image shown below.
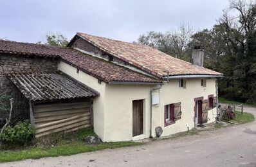
[[91,57],[72,48],[46,46],[0,40],[0,53],[18,55],[35,55],[39,57],[59,57],[64,62],[75,66],[104,82],[149,82],[160,83],[160,80],[136,73],[111,62]]

